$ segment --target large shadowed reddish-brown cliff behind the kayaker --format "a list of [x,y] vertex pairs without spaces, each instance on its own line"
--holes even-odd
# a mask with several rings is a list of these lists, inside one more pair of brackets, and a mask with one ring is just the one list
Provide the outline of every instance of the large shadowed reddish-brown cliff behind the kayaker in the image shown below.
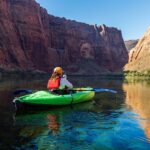
[[[35,0],[0,1],[0,64],[24,70],[120,70],[128,60],[121,31],[49,15]],[[96,70],[88,64],[96,66]]]

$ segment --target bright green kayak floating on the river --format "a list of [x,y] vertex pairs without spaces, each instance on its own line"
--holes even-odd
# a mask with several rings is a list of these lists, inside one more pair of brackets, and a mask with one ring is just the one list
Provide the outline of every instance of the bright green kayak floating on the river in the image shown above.
[[37,91],[32,94],[16,97],[14,102],[28,105],[51,105],[61,106],[81,103],[91,100],[95,92],[92,88],[75,88],[73,94],[58,95],[50,91]]

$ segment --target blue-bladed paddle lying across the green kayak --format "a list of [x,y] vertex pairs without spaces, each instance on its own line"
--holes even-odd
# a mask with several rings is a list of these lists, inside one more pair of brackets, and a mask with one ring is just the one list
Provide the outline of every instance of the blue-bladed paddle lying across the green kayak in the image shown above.
[[[89,89],[89,90],[82,90],[82,89],[72,89],[72,90],[69,90],[69,91],[94,91],[96,93],[99,93],[99,92],[110,92],[110,93],[114,93],[116,94],[117,91],[115,90],[111,90],[111,89],[104,89],[104,88],[93,88],[93,89]],[[16,90],[13,94],[14,95],[18,95],[18,94],[31,94],[33,93],[34,90],[31,90],[31,89],[20,89],[20,90]]]

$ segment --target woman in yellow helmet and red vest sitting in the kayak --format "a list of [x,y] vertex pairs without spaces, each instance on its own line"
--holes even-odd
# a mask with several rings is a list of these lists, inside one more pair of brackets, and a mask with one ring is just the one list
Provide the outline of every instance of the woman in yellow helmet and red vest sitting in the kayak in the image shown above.
[[61,67],[54,68],[51,78],[48,81],[47,88],[55,93],[66,93],[68,89],[72,89],[73,85],[63,75]]

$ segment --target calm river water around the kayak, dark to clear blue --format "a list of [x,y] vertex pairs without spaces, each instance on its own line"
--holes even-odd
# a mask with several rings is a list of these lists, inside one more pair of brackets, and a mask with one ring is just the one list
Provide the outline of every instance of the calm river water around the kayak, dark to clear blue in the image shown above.
[[76,87],[110,88],[93,101],[61,108],[15,111],[13,91],[45,89],[47,79],[0,81],[1,150],[149,150],[150,85],[119,79],[71,77]]

